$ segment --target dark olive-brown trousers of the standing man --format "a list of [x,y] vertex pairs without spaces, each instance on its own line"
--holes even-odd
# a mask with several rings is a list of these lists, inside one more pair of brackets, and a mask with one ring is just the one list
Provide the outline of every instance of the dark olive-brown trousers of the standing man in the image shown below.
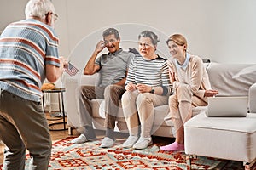
[[48,169],[51,138],[41,102],[0,91],[0,139],[5,144],[3,169],[24,169],[26,149],[29,169]]

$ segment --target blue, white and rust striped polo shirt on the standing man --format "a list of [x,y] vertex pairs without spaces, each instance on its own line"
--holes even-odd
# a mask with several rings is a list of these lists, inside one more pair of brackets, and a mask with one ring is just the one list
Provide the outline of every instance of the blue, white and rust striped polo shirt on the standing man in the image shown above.
[[58,41],[53,28],[38,20],[7,26],[0,37],[0,88],[40,101],[45,65],[60,66]]

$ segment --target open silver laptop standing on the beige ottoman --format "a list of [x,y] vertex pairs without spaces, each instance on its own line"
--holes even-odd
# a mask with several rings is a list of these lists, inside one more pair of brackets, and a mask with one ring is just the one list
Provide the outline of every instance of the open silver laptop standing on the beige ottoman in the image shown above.
[[247,106],[247,96],[209,97],[206,114],[209,117],[245,117]]

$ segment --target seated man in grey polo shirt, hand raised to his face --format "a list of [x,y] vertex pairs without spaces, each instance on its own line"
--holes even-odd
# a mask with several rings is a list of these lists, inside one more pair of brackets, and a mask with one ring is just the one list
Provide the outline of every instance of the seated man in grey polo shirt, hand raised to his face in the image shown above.
[[[114,144],[114,126],[116,115],[119,109],[119,99],[125,92],[125,80],[128,67],[134,54],[125,52],[119,47],[119,32],[114,28],[108,28],[103,31],[103,41],[96,44],[96,49],[91,55],[87,65],[84,68],[85,75],[92,75],[99,71],[101,73],[101,82],[98,86],[82,86],[79,88],[79,121],[85,128],[78,138],[73,139],[71,143],[80,144],[86,141],[96,139],[96,134],[92,127],[91,99],[105,99],[106,136],[102,140],[101,147],[108,148]],[[103,48],[108,48],[108,54],[97,55]]]

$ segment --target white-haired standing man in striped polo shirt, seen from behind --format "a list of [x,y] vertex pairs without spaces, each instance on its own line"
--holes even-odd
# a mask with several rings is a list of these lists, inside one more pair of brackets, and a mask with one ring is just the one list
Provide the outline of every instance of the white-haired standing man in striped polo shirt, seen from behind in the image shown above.
[[[55,82],[67,65],[58,54],[53,29],[57,15],[50,0],[30,0],[26,20],[11,23],[0,37],[0,139],[3,169],[48,169],[51,138],[41,86]],[[65,66],[64,66],[65,65]]]

